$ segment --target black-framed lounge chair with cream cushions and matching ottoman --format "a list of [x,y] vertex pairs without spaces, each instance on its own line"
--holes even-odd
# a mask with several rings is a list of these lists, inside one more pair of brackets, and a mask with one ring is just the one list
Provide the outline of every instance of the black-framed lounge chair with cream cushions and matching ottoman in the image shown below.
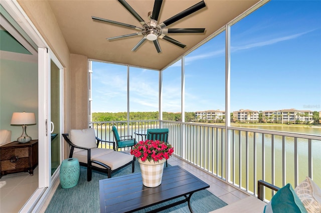
[[[91,180],[92,169],[107,173],[108,178],[114,171],[130,164],[134,172],[134,157],[115,151],[115,142],[99,139],[94,128],[70,129],[62,135],[70,145],[69,157],[78,158],[79,164],[87,167],[87,181]],[[100,142],[112,148],[98,148]]]

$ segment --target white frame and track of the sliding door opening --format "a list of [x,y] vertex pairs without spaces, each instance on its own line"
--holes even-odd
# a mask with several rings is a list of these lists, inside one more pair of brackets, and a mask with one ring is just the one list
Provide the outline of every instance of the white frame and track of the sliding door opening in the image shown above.
[[[29,36],[29,40],[38,47],[38,148],[39,148],[39,187],[26,202],[20,212],[39,211],[39,208],[45,202],[46,198],[53,186],[53,178],[59,176],[56,172],[51,177],[50,163],[51,163],[51,135],[50,135],[50,60],[52,59],[59,67],[61,74],[61,100],[63,100],[63,66],[52,53],[49,45],[41,36],[37,28],[34,26],[28,15],[22,9],[17,0],[3,0],[0,2],[6,11],[12,16],[14,20],[18,20],[19,26]],[[34,46],[35,47],[35,46]],[[63,129],[63,102],[61,101],[61,128]],[[47,123],[46,123],[47,120]],[[63,140],[61,140],[63,141]],[[63,157],[63,146],[61,145],[61,158]],[[58,170],[58,169],[57,169]]]

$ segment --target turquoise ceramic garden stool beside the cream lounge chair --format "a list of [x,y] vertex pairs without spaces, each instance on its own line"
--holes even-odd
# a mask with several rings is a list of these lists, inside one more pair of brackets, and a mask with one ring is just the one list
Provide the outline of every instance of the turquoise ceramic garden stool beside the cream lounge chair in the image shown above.
[[64,159],[60,166],[60,184],[63,188],[71,188],[77,185],[80,166],[77,158]]

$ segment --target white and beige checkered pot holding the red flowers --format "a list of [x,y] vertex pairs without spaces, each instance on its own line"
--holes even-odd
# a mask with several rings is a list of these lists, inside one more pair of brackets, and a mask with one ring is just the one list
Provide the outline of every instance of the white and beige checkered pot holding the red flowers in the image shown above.
[[138,158],[138,162],[140,165],[142,184],[147,187],[161,185],[166,159],[164,158],[158,161],[141,161],[140,158]]

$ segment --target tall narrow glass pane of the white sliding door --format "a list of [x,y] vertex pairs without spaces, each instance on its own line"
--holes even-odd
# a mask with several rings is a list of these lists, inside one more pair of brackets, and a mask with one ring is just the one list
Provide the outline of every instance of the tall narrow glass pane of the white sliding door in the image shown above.
[[60,165],[60,69],[51,60],[50,66],[51,109],[51,175]]

